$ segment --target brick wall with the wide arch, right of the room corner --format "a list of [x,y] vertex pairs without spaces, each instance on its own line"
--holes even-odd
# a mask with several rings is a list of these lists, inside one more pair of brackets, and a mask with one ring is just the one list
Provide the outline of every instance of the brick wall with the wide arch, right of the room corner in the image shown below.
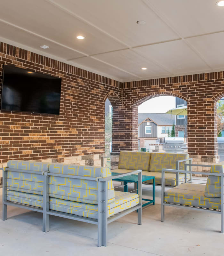
[[124,83],[126,110],[122,115],[132,120],[125,127],[128,134],[123,136],[123,141],[128,141],[125,148],[138,148],[138,106],[153,97],[170,95],[188,103],[188,153],[197,159],[200,156],[202,162],[217,161],[216,101],[224,95],[223,74],[214,72]]

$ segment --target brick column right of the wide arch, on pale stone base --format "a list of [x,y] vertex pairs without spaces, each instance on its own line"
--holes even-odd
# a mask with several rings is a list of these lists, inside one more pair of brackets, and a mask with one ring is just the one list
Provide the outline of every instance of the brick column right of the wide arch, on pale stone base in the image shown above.
[[[219,161],[217,150],[216,103],[211,98],[191,98],[188,102],[188,154],[193,164]],[[208,167],[193,168],[208,171]]]

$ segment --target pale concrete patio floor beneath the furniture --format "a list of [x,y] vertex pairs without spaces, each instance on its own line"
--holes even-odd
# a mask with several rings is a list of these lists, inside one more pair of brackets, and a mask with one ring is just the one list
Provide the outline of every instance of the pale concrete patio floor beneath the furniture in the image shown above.
[[[152,195],[152,187],[143,185],[143,195]],[[219,214],[167,206],[160,220],[156,187],[156,204],[143,208],[142,225],[136,212],[110,223],[108,246],[98,248],[96,225],[50,216],[50,232],[44,233],[41,213],[8,206],[8,220],[0,220],[0,255],[223,255]]]

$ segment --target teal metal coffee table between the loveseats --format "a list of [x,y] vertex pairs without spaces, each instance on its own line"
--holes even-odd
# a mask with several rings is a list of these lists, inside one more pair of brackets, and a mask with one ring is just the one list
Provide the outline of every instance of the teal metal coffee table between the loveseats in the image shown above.
[[[119,174],[124,174],[124,173],[111,172],[112,176],[116,176]],[[124,192],[128,192],[128,183],[138,181],[138,175],[132,174],[132,175],[127,175],[127,176],[124,176],[124,177],[121,177],[118,179],[113,179],[113,180],[123,181],[124,182]],[[155,177],[142,175],[142,182],[147,181],[147,180],[152,180],[152,186],[153,186],[152,199],[142,198],[142,201],[148,201],[147,203],[142,204],[142,207],[146,206],[148,204],[155,204]],[[136,182],[136,185],[137,185],[137,190],[138,190],[138,182]],[[136,193],[138,193],[138,192],[136,192]]]

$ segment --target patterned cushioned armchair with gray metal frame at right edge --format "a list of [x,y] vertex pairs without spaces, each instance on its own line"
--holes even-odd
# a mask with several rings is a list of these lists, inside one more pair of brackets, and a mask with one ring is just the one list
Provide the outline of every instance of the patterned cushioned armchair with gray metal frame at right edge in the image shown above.
[[206,184],[202,184],[201,180],[199,180],[199,183],[182,183],[175,188],[165,190],[165,175],[169,172],[208,175],[207,172],[163,169],[161,221],[164,221],[165,206],[187,207],[193,210],[221,214],[221,233],[224,233],[224,162],[211,166]]

